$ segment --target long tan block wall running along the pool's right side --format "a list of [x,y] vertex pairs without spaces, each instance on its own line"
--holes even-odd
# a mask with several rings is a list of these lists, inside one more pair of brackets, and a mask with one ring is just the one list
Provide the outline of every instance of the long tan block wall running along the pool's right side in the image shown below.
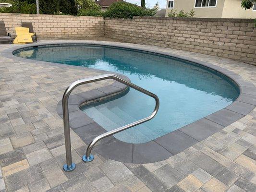
[[253,19],[105,18],[105,36],[256,64]]

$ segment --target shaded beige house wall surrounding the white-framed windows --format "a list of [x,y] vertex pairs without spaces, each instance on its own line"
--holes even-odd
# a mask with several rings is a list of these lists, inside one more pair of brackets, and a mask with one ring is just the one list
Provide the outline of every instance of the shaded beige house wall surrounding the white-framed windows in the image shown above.
[[[223,6],[225,0],[217,0],[216,7],[195,7],[195,0],[174,0],[173,8],[167,8],[166,4],[166,16],[171,10],[177,10],[179,12],[183,10],[184,12],[190,12],[190,10],[195,10],[195,17],[200,18],[221,18]],[[167,0],[168,3],[168,0]]]

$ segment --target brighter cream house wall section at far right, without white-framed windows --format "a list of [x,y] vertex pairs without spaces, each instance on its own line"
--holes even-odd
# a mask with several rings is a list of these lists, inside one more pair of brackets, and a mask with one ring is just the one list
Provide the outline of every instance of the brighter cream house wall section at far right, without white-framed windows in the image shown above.
[[241,0],[225,0],[222,18],[256,18],[256,11],[253,9],[242,9]]

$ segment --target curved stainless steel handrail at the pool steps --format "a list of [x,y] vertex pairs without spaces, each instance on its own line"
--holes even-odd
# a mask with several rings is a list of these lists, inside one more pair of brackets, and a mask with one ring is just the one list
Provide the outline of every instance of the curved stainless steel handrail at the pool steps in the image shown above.
[[140,91],[148,96],[151,96],[155,99],[156,101],[156,106],[154,108],[154,111],[151,113],[151,115],[149,115],[148,117],[142,119],[142,120],[137,120],[133,123],[130,123],[128,125],[122,126],[120,128],[114,129],[112,131],[103,133],[101,135],[99,135],[98,137],[94,138],[93,141],[88,145],[87,150],[86,150],[86,154],[83,156],[83,161],[85,162],[89,162],[92,161],[94,156],[91,155],[91,151],[93,146],[101,139],[108,137],[110,135],[113,135],[115,133],[118,132],[122,132],[126,129],[129,129],[131,127],[134,127],[136,125],[139,125],[141,123],[144,123],[148,120],[153,119],[157,112],[158,112],[158,108],[159,108],[159,99],[158,96],[156,96],[155,94],[147,91],[146,89],[143,89],[129,81],[126,81],[120,77],[118,77],[117,75],[114,74],[103,74],[103,75],[98,75],[95,77],[89,77],[89,78],[85,78],[85,79],[80,79],[77,80],[75,82],[73,82],[72,84],[70,84],[68,86],[68,88],[66,89],[66,91],[64,92],[63,98],[62,98],[62,110],[63,110],[63,123],[64,123],[64,136],[65,136],[65,148],[66,148],[66,161],[67,164],[65,164],[63,166],[63,169],[65,171],[71,171],[75,168],[75,164],[72,163],[72,155],[71,155],[71,140],[70,140],[70,127],[69,127],[69,111],[68,111],[68,99],[69,96],[71,94],[71,92],[73,91],[73,89],[81,84],[88,84],[88,83],[92,83],[92,82],[96,82],[96,81],[101,81],[101,80],[105,80],[105,79],[113,79],[116,80],[122,84],[126,84],[134,89],[136,89],[137,91]]

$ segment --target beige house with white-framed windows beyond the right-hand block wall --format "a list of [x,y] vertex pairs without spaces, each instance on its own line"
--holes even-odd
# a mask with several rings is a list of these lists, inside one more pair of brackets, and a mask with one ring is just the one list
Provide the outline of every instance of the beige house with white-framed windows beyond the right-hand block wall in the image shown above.
[[249,10],[242,9],[242,0],[167,0],[166,14],[171,10],[190,12],[204,18],[256,18],[256,3]]

